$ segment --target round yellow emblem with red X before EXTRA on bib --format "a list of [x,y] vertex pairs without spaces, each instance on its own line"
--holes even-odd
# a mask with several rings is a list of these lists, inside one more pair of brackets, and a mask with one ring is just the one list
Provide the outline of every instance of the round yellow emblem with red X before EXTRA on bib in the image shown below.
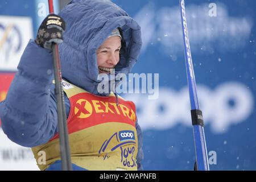
[[75,105],[75,115],[77,118],[88,118],[92,115],[92,105],[89,101],[80,99]]

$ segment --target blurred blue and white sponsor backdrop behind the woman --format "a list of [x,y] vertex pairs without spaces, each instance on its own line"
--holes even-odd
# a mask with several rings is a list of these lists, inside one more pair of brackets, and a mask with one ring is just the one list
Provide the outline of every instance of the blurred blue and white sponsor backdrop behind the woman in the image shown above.
[[[54,2],[57,13],[69,1]],[[143,167],[192,170],[196,159],[179,1],[112,2],[142,28],[142,52],[133,73],[159,73],[156,100],[123,94],[137,105]],[[210,170],[255,170],[256,2],[185,0],[185,8]],[[0,101],[47,14],[45,0],[0,1]],[[38,170],[30,148],[11,142],[1,127],[0,170]]]

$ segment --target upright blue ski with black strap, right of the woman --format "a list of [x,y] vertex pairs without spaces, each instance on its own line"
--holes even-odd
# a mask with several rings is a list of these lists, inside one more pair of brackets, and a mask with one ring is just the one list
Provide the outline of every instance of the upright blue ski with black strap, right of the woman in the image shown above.
[[196,169],[199,171],[209,171],[207,146],[204,136],[204,121],[203,114],[199,108],[199,102],[197,99],[196,92],[196,79],[193,70],[193,63],[191,57],[191,49],[188,39],[188,28],[187,19],[185,17],[185,3],[184,0],[179,0],[180,2],[180,14],[183,30],[183,40],[184,40],[184,51],[185,51],[185,63],[187,71],[189,98],[191,104],[191,117],[193,125],[193,135],[194,144],[196,151]]

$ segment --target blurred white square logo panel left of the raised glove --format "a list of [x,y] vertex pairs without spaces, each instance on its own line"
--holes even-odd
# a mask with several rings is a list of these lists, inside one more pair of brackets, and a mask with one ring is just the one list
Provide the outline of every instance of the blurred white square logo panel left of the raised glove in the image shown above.
[[0,71],[16,71],[32,38],[32,20],[24,16],[0,16]]

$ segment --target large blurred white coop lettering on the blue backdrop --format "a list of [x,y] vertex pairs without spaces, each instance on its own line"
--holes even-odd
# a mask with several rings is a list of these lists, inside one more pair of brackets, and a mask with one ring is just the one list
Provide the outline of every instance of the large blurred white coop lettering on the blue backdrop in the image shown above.
[[[241,82],[224,82],[214,89],[197,85],[200,109],[205,125],[213,133],[226,133],[230,126],[246,121],[254,111],[254,95]],[[166,130],[176,125],[192,126],[187,86],[179,92],[159,88],[159,99],[148,100],[143,94],[127,95],[135,102],[137,116],[143,130]]]

